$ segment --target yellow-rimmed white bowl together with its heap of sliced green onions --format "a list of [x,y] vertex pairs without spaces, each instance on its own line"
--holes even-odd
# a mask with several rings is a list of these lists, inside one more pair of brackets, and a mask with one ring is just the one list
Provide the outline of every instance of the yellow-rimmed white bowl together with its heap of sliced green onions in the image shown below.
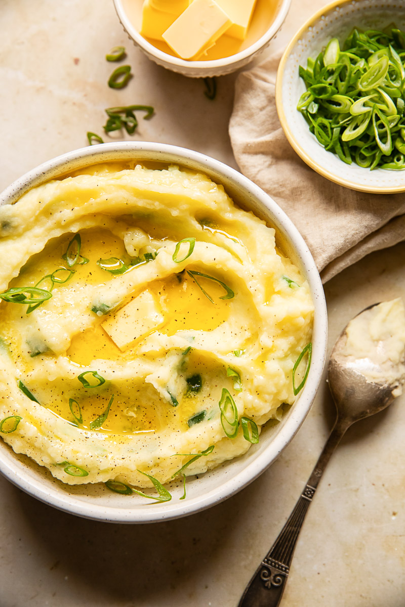
[[339,185],[405,191],[405,4],[338,0],[282,56],[277,113],[294,150]]

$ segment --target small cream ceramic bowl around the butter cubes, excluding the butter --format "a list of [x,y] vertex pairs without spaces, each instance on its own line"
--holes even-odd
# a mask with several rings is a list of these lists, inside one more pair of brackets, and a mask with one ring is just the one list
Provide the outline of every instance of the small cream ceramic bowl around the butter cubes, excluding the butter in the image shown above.
[[[170,55],[162,49],[158,49],[140,35],[141,10],[143,0],[114,0],[118,19],[121,21],[129,38],[140,47],[141,50],[160,66],[166,67],[173,72],[179,72],[183,76],[192,78],[205,78],[206,76],[222,76],[234,72],[239,67],[245,66],[254,57],[259,55],[274,38],[287,16],[291,0],[258,0],[255,14],[250,26],[247,40],[243,42],[239,52],[222,59],[208,61],[185,61]],[[269,11],[273,13],[273,19],[267,25]],[[164,49],[165,46],[162,46]]]

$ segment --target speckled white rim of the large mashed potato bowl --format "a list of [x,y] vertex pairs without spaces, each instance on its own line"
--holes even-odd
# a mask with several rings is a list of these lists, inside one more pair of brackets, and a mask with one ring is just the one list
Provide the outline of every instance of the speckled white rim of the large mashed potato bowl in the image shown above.
[[13,484],[33,497],[64,512],[84,518],[114,523],[149,523],[194,514],[226,500],[250,484],[273,463],[287,444],[290,443],[304,421],[305,416],[307,416],[318,390],[319,382],[321,381],[327,348],[327,309],[324,290],[319,272],[304,239],[293,222],[291,222],[284,211],[268,194],[247,177],[244,177],[238,171],[219,160],[189,149],[162,143],[123,141],[120,143],[97,144],[67,152],[67,154],[53,158],[53,160],[47,161],[38,166],[38,168],[29,171],[0,194],[0,205],[14,203],[29,189],[79,168],[84,168],[100,161],[125,161],[134,160],[134,158],[137,160],[140,160],[140,158],[143,158],[145,161],[154,159],[164,163],[181,164],[194,170],[206,172],[206,174],[213,177],[214,181],[222,183],[225,189],[229,190],[230,185],[232,185],[235,191],[241,191],[243,193],[243,200],[250,198],[251,200],[248,200],[246,203],[247,208],[253,208],[254,204],[256,204],[258,208],[264,209],[263,212],[265,214],[273,218],[276,229],[280,234],[285,234],[292,244],[297,258],[301,260],[304,273],[310,285],[311,296],[315,306],[312,340],[313,356],[307,382],[298,400],[291,407],[290,412],[288,412],[288,418],[276,435],[274,435],[270,444],[265,447],[262,453],[256,456],[254,455],[254,451],[252,451],[254,446],[251,447],[248,453],[245,454],[247,457],[251,454],[251,461],[234,476],[231,475],[230,477],[225,471],[223,474],[225,480],[219,487],[209,490],[209,472],[207,472],[204,478],[208,479],[208,490],[203,496],[186,498],[182,502],[172,500],[165,504],[151,504],[149,507],[147,505],[143,505],[141,508],[135,506],[134,509],[86,503],[74,495],[67,496],[61,489],[58,489],[57,484],[49,486],[49,483],[38,480],[38,478],[33,479],[29,473],[25,475],[21,474],[21,465],[18,465],[19,462],[13,459],[14,453],[11,447],[5,444],[0,446],[0,472]]

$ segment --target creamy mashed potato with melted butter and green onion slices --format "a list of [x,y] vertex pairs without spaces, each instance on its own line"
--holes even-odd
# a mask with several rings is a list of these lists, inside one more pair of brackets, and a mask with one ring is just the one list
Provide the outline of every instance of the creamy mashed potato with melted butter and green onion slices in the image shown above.
[[203,472],[296,399],[307,282],[206,175],[50,181],[0,208],[0,257],[0,434],[64,483]]

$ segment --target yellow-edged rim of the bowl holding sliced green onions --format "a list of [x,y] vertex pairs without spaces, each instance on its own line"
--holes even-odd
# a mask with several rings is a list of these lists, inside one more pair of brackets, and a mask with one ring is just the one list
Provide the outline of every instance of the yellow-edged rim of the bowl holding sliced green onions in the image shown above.
[[308,166],[311,167],[311,169],[314,169],[314,171],[319,173],[319,175],[322,175],[322,177],[326,177],[328,180],[333,181],[333,183],[338,183],[338,185],[345,186],[345,188],[355,189],[355,190],[358,190],[359,192],[369,192],[370,194],[397,194],[398,192],[405,191],[405,185],[385,186],[385,187],[384,186],[361,186],[361,185],[359,185],[359,183],[356,183],[356,181],[337,177],[335,173],[328,171],[328,169],[325,169],[321,164],[318,164],[315,160],[313,160],[313,158],[310,155],[308,155],[307,152],[305,151],[305,149],[302,148],[302,146],[298,143],[298,141],[296,140],[296,137],[294,136],[293,131],[291,131],[291,129],[290,129],[290,124],[288,123],[287,117],[285,116],[284,107],[283,107],[283,103],[282,103],[282,85],[283,85],[285,64],[287,63],[287,60],[290,56],[291,51],[293,50],[293,48],[296,45],[296,43],[298,42],[298,40],[301,38],[302,34],[306,30],[308,30],[309,27],[312,27],[316,21],[321,19],[322,15],[324,15],[324,13],[328,13],[328,12],[330,12],[330,10],[333,10],[333,8],[336,8],[343,4],[348,4],[349,2],[352,2],[352,0],[335,0],[334,2],[330,2],[330,4],[327,4],[326,6],[320,8],[314,15],[312,15],[308,19],[308,21],[306,21],[304,23],[304,25],[302,25],[302,27],[300,27],[298,32],[293,36],[291,41],[288,43],[287,49],[285,49],[285,51],[282,55],[282,58],[280,60],[279,67],[277,69],[277,77],[276,77],[277,114],[279,116],[279,120],[281,122],[281,126],[285,133],[285,136],[287,137],[287,139],[288,139],[289,143],[291,144],[291,146],[293,147],[294,151],[297,152],[299,157],[301,157],[302,160],[304,160],[304,162],[307,163]]

